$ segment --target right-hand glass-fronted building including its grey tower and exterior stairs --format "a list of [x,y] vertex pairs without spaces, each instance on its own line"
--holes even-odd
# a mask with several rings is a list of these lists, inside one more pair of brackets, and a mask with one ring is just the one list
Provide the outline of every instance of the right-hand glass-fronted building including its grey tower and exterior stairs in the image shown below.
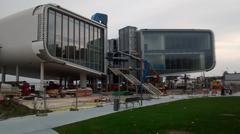
[[136,92],[144,88],[160,95],[155,87],[160,76],[209,71],[215,66],[210,30],[127,26],[119,30],[119,39],[109,40],[108,45],[109,83],[123,81],[135,86]]

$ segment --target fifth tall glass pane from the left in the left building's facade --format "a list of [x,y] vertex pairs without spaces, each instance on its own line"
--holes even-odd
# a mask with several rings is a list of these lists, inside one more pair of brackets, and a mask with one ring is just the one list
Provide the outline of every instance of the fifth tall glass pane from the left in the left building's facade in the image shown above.
[[75,34],[74,34],[74,45],[75,45],[75,62],[80,64],[79,62],[79,56],[80,56],[80,44],[79,44],[79,21],[78,20],[75,20]]

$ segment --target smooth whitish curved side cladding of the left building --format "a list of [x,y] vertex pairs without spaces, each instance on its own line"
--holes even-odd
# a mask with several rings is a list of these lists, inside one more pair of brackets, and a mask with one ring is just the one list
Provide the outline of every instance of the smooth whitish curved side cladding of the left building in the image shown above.
[[38,17],[34,8],[24,10],[0,20],[1,64],[34,63],[40,59],[32,51],[37,39]]

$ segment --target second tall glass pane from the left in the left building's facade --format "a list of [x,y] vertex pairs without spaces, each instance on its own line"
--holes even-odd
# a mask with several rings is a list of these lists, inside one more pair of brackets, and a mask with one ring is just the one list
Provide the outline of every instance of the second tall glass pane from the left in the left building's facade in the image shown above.
[[56,13],[56,56],[62,57],[62,14]]

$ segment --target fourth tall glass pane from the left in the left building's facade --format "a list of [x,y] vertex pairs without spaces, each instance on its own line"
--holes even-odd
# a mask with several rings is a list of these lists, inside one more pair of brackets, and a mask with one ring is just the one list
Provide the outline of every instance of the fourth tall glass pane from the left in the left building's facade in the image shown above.
[[68,33],[68,51],[69,51],[69,61],[74,62],[75,46],[73,45],[74,41],[74,21],[73,18],[69,18],[69,33]]

